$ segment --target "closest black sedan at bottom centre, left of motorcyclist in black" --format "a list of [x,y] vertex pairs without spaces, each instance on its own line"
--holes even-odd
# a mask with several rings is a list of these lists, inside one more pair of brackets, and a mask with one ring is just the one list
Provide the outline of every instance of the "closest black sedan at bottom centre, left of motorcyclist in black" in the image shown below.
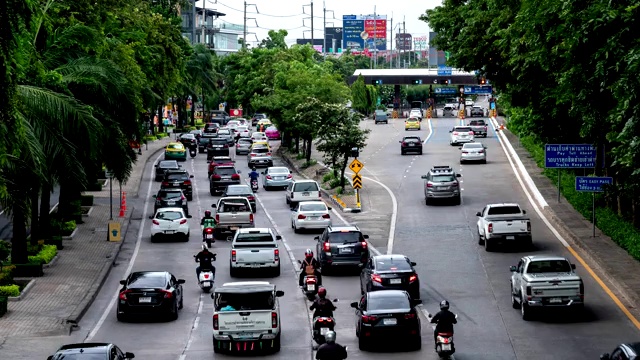
[[360,302],[352,302],[356,309],[356,336],[360,350],[376,343],[408,342],[415,349],[422,348],[420,318],[416,305],[403,290],[382,290],[366,293]]

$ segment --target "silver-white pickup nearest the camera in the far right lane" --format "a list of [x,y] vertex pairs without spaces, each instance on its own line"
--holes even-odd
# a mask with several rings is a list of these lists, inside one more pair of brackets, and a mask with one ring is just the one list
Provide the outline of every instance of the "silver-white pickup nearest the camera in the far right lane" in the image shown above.
[[576,266],[562,256],[525,256],[511,266],[511,305],[523,320],[534,308],[584,308],[584,283]]

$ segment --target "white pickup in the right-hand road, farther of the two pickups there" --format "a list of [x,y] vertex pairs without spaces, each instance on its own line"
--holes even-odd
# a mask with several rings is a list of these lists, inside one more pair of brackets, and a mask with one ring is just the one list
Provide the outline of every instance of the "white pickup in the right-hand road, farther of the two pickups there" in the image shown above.
[[477,212],[478,244],[492,251],[497,243],[532,246],[531,220],[518,204],[488,204]]

